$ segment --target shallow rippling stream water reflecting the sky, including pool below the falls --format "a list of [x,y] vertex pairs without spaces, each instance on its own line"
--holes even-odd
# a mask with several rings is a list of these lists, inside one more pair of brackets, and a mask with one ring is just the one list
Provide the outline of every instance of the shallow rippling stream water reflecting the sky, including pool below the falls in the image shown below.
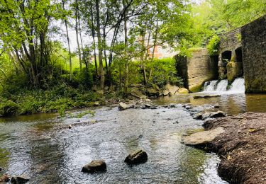
[[[209,92],[202,92],[209,93]],[[213,91],[211,92],[213,93]],[[198,93],[199,94],[199,93]],[[181,137],[202,128],[182,104],[228,114],[266,112],[265,95],[223,93],[194,99],[195,94],[155,100],[157,109],[99,108],[95,115],[57,119],[40,114],[0,119],[1,174],[26,174],[30,183],[226,183],[217,175],[216,154],[184,146]],[[177,108],[163,107],[179,104]],[[72,129],[68,129],[68,125]],[[123,160],[136,149],[148,162],[127,166]],[[82,173],[82,166],[104,159],[106,173]]]

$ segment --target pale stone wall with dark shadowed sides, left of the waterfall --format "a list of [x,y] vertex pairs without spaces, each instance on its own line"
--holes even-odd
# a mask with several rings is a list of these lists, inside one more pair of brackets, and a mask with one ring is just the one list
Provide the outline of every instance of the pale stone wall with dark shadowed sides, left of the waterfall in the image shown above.
[[205,81],[218,77],[218,58],[209,57],[206,49],[195,50],[192,57],[176,57],[177,72],[189,91],[200,91]]

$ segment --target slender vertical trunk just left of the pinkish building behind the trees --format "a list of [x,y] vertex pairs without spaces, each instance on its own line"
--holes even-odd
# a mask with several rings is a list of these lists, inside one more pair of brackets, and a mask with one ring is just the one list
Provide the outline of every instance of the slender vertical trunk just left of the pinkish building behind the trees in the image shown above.
[[[123,8],[126,8],[125,2],[123,1]],[[127,26],[127,13],[125,11],[124,15],[124,30],[125,30],[125,86],[124,86],[124,95],[127,96],[128,94],[128,59],[127,59],[127,52],[128,52],[128,26]]]

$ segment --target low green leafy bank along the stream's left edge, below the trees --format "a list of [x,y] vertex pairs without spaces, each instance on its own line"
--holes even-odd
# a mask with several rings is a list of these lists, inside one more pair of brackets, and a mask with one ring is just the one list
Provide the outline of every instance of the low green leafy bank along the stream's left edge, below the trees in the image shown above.
[[0,96],[0,116],[30,115],[34,113],[58,112],[105,105],[106,100],[118,98],[118,92],[99,92],[84,88],[73,88],[62,84],[50,90],[26,90],[19,93],[2,93]]

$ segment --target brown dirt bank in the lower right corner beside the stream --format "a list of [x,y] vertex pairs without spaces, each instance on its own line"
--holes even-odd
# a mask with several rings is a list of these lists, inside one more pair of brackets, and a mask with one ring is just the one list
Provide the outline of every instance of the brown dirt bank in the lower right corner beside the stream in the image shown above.
[[230,183],[266,183],[266,113],[245,113],[204,123],[226,131],[206,149],[221,157],[218,174]]

